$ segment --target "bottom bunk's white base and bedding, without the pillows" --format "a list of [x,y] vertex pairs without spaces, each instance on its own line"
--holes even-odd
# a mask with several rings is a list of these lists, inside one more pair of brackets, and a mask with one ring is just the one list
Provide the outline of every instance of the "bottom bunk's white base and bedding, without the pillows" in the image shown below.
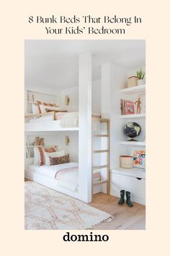
[[[58,192],[79,198],[79,163],[61,163],[53,166],[31,164],[25,170],[25,178],[44,185]],[[99,182],[101,174],[95,171],[93,182]],[[99,192],[99,188],[94,192]]]

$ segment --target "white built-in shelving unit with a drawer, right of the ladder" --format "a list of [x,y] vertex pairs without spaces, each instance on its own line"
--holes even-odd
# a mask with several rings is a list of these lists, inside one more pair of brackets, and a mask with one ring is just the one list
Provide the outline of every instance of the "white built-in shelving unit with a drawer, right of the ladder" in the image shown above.
[[[145,68],[143,68],[145,70]],[[135,74],[138,67],[135,69],[121,69],[115,67],[115,88],[112,90],[112,161],[110,169],[110,193],[115,197],[120,197],[120,190],[125,189],[132,194],[132,201],[145,205],[146,201],[146,171],[144,168],[121,168],[120,155],[133,155],[135,150],[141,153],[146,148],[145,131],[146,131],[146,113],[145,107],[145,94],[146,85],[138,85],[131,88],[125,88],[127,80],[130,75]],[[121,115],[122,111],[126,110],[126,101],[135,103],[141,95],[141,112],[140,114],[125,114]],[[120,99],[122,101],[120,101]],[[123,103],[122,108],[120,104]],[[125,109],[124,109],[125,107]],[[135,113],[137,113],[137,105],[134,105]],[[138,141],[127,141],[128,137],[125,136],[124,127],[129,121],[137,122],[141,127]],[[145,160],[143,160],[145,161]]]

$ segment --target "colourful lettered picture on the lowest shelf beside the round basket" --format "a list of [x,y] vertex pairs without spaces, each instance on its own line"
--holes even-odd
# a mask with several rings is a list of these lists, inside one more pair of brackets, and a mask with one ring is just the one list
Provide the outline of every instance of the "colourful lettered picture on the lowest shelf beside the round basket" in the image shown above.
[[132,149],[130,155],[133,156],[133,167],[146,168],[146,150]]

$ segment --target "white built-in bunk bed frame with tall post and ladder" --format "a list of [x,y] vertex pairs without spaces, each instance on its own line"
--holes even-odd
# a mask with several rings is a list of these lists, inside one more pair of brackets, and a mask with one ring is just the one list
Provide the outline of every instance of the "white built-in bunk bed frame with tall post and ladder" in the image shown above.
[[[30,99],[29,99],[30,101]],[[35,99],[31,99],[31,101],[35,101]],[[44,101],[44,99],[42,99]],[[45,100],[46,101],[46,100]],[[29,103],[30,104],[30,103]],[[30,104],[31,105],[31,104]],[[77,149],[79,150],[79,189],[76,191],[71,191],[66,187],[61,187],[58,185],[55,179],[37,173],[34,170],[30,170],[28,166],[31,166],[32,163],[26,163],[25,166],[25,177],[27,179],[31,179],[35,182],[38,182],[44,186],[50,187],[51,189],[56,189],[58,192],[62,192],[71,197],[78,198],[84,202],[91,202],[92,194],[94,189],[102,186],[104,183],[107,184],[107,192],[109,192],[109,131],[105,132],[105,135],[95,135],[96,137],[106,137],[107,138],[107,149],[105,150],[94,150],[91,153],[91,53],[83,53],[79,54],[79,114],[78,114],[78,122],[79,124],[69,127],[63,127],[61,125],[61,120],[53,119],[44,119],[44,116],[51,115],[55,116],[54,113],[45,113],[45,114],[32,114],[27,115],[27,121],[25,122],[25,133],[26,135],[34,132],[71,132],[78,131],[79,135],[79,145]],[[27,109],[26,109],[27,113]],[[101,116],[93,116],[95,120],[102,122],[107,122],[109,124],[108,119],[102,119]],[[36,121],[29,121],[29,119],[38,119]],[[42,119],[44,119],[42,121]],[[95,137],[94,136],[94,137]],[[106,153],[107,154],[107,163],[103,166],[94,166],[92,155],[97,153]],[[33,158],[30,159],[33,162]],[[97,169],[101,170],[105,168],[107,170],[106,176],[104,176],[104,180],[101,182],[93,182],[93,172]],[[100,186],[98,186],[100,185]],[[94,186],[94,188],[93,188]]]

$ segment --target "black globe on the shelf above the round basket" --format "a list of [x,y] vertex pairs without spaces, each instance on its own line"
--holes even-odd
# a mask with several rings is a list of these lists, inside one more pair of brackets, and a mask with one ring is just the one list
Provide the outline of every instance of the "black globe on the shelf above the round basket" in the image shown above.
[[[127,135],[128,137],[134,138],[140,135],[141,127],[138,123],[135,123],[135,121],[130,121],[128,122],[128,124],[125,125],[124,132],[125,132],[125,135]],[[128,141],[137,141],[137,140],[131,139]]]

